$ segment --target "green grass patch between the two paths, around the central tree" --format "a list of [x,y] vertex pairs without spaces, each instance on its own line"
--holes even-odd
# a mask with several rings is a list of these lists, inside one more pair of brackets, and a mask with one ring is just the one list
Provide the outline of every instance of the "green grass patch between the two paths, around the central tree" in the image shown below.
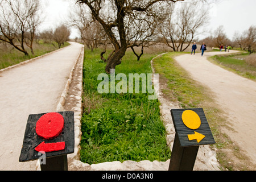
[[[144,54],[137,61],[133,52],[127,51],[122,64],[115,68],[115,75],[125,73],[128,80],[129,73],[152,73],[150,60],[155,56]],[[105,66],[99,49],[85,50],[81,161],[93,164],[170,159],[158,100],[148,100],[148,93],[98,93],[101,80],[97,77],[105,73]]]

